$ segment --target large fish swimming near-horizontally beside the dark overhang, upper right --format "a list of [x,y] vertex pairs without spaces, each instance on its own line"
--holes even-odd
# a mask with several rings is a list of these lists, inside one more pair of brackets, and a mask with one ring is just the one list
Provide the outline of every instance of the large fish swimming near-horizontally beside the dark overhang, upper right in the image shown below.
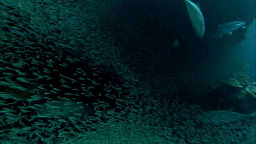
[[223,25],[220,25],[218,30],[216,30],[215,34],[212,35],[212,37],[220,37],[224,34],[229,34],[231,35],[234,30],[237,30],[238,28],[242,27],[245,25],[245,22],[229,22]]

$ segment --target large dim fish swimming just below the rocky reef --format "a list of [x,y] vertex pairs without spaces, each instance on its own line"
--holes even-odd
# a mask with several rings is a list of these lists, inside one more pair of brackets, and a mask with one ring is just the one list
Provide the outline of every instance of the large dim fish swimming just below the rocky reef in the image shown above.
[[212,110],[198,114],[198,119],[202,122],[234,122],[236,120],[242,120],[249,117],[256,117],[255,112],[252,114],[240,114],[232,112],[233,108],[228,110]]

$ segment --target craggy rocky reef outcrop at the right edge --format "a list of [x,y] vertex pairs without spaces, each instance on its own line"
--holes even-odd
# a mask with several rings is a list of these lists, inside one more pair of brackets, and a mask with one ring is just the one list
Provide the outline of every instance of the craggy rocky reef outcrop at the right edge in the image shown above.
[[250,114],[255,110],[255,82],[249,83],[249,76],[238,74],[219,80],[213,88],[218,98],[217,106],[236,108],[239,112]]

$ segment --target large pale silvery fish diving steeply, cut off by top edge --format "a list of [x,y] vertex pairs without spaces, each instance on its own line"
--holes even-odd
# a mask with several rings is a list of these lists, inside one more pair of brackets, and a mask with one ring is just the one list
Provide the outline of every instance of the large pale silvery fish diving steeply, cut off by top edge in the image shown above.
[[187,6],[190,21],[196,34],[202,38],[204,36],[204,17],[200,8],[190,0],[183,0]]

